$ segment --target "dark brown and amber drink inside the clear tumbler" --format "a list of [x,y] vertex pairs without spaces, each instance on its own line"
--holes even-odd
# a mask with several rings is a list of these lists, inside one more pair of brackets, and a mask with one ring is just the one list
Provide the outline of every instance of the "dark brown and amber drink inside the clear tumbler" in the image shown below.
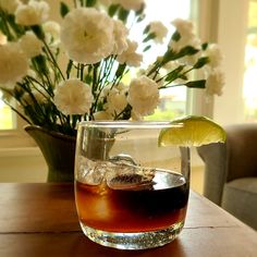
[[143,232],[166,229],[183,221],[188,185],[176,173],[158,171],[151,188],[112,189],[75,184],[82,223],[109,232]]

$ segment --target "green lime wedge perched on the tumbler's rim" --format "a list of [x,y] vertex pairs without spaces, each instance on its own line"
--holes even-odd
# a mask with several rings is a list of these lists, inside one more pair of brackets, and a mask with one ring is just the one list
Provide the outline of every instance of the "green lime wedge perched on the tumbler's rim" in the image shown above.
[[171,122],[173,127],[160,132],[159,146],[203,146],[224,143],[224,130],[205,117],[189,115]]

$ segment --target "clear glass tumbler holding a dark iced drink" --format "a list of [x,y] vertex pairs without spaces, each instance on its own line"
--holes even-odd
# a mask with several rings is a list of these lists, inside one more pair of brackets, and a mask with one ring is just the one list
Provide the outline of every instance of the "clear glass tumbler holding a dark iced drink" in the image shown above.
[[160,146],[168,122],[82,122],[75,200],[83,232],[114,248],[164,245],[181,232],[189,192],[189,149]]

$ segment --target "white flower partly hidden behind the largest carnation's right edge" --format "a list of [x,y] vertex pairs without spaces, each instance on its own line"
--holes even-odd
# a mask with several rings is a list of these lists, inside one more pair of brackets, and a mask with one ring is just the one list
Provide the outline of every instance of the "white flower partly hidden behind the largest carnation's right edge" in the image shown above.
[[128,47],[126,40],[128,30],[121,21],[113,20],[113,22],[114,22],[114,27],[113,27],[114,46],[112,54],[121,54]]

